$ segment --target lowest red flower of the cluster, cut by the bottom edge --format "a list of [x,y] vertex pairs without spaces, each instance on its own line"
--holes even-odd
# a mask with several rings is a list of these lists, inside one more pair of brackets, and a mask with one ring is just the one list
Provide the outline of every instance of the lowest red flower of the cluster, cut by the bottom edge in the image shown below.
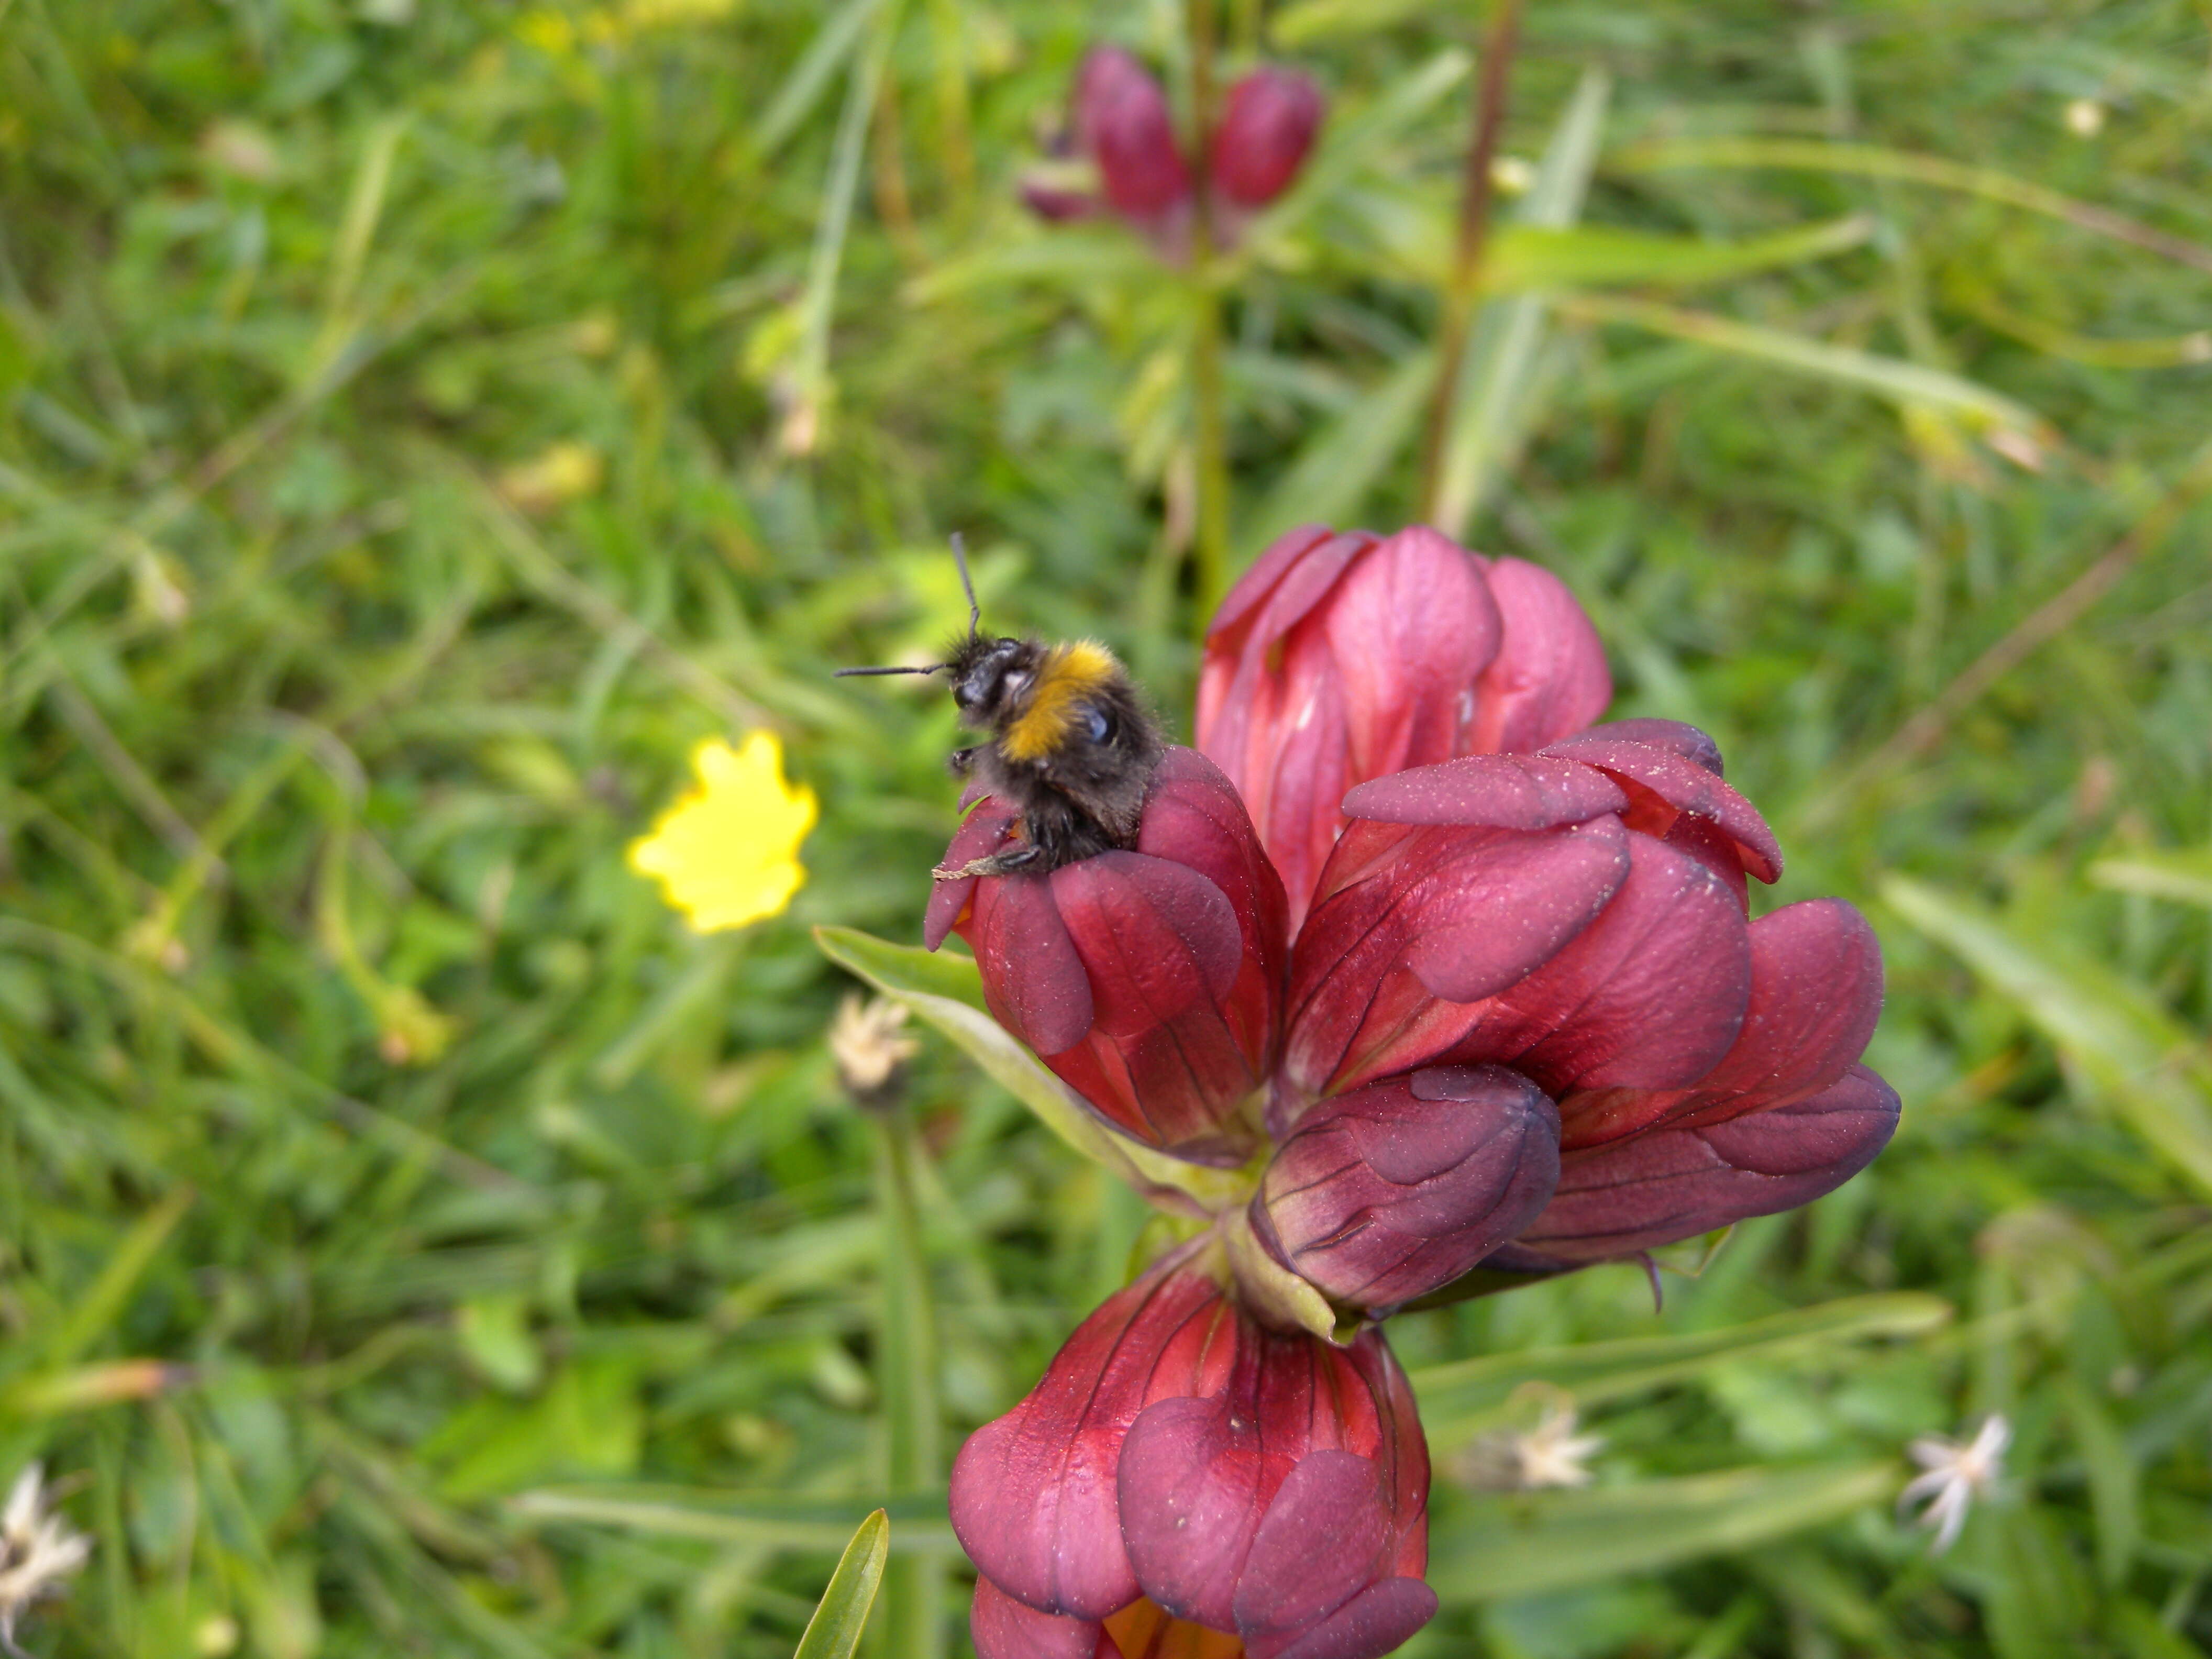
[[1380,1332],[1265,1329],[1210,1250],[1110,1296],[953,1462],[982,1659],[1130,1659],[1168,1632],[1376,1659],[1436,1613],[1429,1451]]

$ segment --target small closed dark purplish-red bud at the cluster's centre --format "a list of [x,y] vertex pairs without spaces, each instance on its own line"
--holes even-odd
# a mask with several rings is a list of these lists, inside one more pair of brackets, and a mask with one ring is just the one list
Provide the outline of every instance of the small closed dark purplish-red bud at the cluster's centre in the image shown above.
[[1447,1285],[1535,1221],[1559,1113],[1504,1066],[1431,1066],[1323,1102],[1267,1164],[1252,1225],[1345,1307]]

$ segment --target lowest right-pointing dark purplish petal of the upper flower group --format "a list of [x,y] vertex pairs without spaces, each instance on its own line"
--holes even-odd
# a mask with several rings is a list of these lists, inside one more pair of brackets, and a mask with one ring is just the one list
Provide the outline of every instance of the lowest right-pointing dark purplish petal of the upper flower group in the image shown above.
[[1851,1066],[1812,1099],[1568,1152],[1559,1190],[1517,1243],[1604,1261],[1794,1210],[1867,1168],[1896,1126],[1896,1091]]

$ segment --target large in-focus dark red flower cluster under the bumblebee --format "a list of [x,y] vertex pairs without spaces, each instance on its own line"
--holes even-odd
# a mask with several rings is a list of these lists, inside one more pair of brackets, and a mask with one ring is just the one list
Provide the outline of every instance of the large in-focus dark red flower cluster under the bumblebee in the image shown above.
[[[929,945],[1099,1119],[1254,1170],[962,1451],[984,1659],[1374,1659],[1433,1613],[1380,1332],[1270,1327],[1228,1230],[1378,1321],[1807,1203],[1887,1144],[1871,929],[1752,920],[1772,830],[1712,739],[1593,723],[1610,697],[1551,573],[1294,531],[1214,619],[1137,847],[933,894]],[[987,799],[945,863],[1015,832]]]

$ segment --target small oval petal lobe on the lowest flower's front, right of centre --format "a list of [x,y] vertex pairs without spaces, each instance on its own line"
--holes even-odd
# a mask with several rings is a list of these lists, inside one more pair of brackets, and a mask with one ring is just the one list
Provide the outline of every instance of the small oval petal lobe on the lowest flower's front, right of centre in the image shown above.
[[1349,1451],[1305,1453],[1252,1537],[1237,1632],[1281,1652],[1380,1577],[1391,1544],[1380,1467]]

